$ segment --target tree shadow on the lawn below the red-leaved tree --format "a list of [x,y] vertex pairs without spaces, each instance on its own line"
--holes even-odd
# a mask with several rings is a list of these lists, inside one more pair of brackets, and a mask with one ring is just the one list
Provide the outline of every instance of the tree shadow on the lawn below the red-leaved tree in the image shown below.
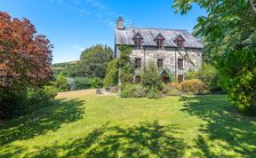
[[84,100],[57,100],[57,104],[9,122],[0,128],[0,146],[16,140],[34,138],[49,130],[58,130],[60,125],[76,122],[84,114]]

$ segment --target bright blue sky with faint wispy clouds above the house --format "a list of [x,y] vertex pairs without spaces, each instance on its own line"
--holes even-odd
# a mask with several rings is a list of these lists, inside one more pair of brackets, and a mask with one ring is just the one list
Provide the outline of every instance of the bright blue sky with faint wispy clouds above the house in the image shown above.
[[79,59],[93,44],[114,47],[114,27],[119,16],[126,27],[193,30],[206,12],[194,6],[187,15],[174,13],[172,0],[0,0],[0,11],[27,18],[38,34],[54,45],[53,63]]

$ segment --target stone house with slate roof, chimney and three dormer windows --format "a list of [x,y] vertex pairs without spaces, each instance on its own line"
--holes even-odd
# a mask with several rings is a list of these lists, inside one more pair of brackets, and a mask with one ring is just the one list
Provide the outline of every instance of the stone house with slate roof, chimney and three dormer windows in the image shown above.
[[163,81],[166,81],[167,72],[172,72],[180,83],[189,70],[202,67],[203,45],[187,30],[124,28],[124,20],[120,17],[115,28],[116,58],[120,56],[120,45],[134,47],[130,54],[130,59],[136,67],[134,83],[140,83],[141,67],[150,60],[156,63]]

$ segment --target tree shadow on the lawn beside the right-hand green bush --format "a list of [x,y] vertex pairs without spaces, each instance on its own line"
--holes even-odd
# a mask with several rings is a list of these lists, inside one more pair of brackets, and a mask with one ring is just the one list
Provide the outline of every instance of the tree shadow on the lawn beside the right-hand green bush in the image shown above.
[[[240,115],[236,107],[230,106],[225,95],[181,97],[180,100],[185,101],[182,111],[197,115],[207,122],[200,130],[209,136],[211,142],[225,142],[212,146],[203,135],[199,135],[195,147],[200,152],[195,153],[196,156],[227,157],[230,156],[228,151],[243,157],[256,155],[256,119]],[[214,147],[220,148],[222,152],[213,153]]]

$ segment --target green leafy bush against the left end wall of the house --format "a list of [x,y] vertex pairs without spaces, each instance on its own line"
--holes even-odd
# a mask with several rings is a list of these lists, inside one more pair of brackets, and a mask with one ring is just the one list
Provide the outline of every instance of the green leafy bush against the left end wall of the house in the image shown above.
[[105,86],[113,86],[118,83],[118,59],[113,59],[108,63],[107,74],[104,78]]

